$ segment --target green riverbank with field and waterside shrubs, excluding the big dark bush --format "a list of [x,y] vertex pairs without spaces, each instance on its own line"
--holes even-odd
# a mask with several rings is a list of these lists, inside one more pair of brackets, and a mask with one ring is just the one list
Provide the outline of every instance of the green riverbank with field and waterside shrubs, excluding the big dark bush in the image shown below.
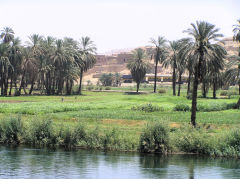
[[136,151],[141,149],[141,134],[147,123],[158,121],[168,126],[167,152],[238,156],[234,146],[223,147],[230,140],[227,136],[236,133],[232,128],[240,127],[240,111],[232,105],[237,95],[230,99],[219,95],[218,99],[199,98],[199,127],[192,129],[188,126],[189,110],[176,111],[190,106],[191,100],[184,95],[173,97],[170,90],[166,91],[141,95],[84,92],[83,96],[1,97],[1,141]]

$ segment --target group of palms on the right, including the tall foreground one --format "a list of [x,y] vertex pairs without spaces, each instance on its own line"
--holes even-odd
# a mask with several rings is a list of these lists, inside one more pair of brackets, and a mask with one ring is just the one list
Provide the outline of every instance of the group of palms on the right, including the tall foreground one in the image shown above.
[[[234,25],[233,40],[240,44],[240,20],[238,23]],[[227,84],[238,84],[240,95],[240,46],[239,56],[227,56],[221,42],[223,35],[218,33],[219,29],[215,28],[215,25],[205,21],[192,23],[191,28],[184,32],[190,37],[169,42],[169,45],[164,37],[151,39],[150,42],[155,46],[150,54],[155,64],[154,92],[156,92],[158,64],[171,67],[174,96],[176,95],[176,81],[178,81],[178,96],[180,96],[182,75],[187,73],[189,75],[187,94],[191,94],[192,97],[191,123],[195,126],[199,84],[201,84],[203,97],[207,96],[208,89],[212,87],[213,98],[216,98],[216,90]],[[225,64],[226,58],[230,59],[227,65]],[[133,59],[128,64],[132,77],[137,83],[137,92],[140,82],[149,69],[146,59],[148,59],[146,52],[136,49],[133,52]],[[237,107],[240,107],[240,98]]]

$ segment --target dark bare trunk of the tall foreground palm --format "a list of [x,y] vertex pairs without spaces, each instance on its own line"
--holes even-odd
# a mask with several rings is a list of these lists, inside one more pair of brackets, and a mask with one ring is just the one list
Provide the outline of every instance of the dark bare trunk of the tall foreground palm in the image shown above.
[[196,127],[198,78],[200,76],[202,60],[203,60],[203,52],[201,52],[198,65],[195,67],[194,82],[193,82],[191,123],[194,127]]

